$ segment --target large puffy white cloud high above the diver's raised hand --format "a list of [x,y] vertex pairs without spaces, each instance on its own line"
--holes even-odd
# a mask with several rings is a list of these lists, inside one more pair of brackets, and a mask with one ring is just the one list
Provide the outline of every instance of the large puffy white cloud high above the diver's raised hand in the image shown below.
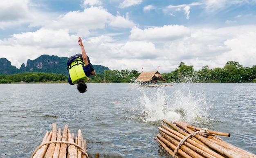
[[102,7],[90,7],[81,11],[71,11],[65,15],[60,15],[52,24],[46,25],[47,29],[68,29],[70,32],[79,32],[87,36],[88,30],[103,29],[106,25],[129,28],[135,24],[128,19],[117,14],[113,16]]

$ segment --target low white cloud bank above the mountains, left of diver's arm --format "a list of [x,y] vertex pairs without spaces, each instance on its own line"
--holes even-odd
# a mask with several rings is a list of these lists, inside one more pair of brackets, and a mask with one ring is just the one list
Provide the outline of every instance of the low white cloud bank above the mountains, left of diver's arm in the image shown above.
[[27,63],[27,59],[33,60],[40,55],[70,56],[74,52],[69,52],[68,49],[77,46],[77,39],[74,35],[70,36],[67,30],[40,29],[36,32],[13,34],[12,38],[0,41],[0,49],[4,50],[4,57],[12,65],[20,68],[22,63]]

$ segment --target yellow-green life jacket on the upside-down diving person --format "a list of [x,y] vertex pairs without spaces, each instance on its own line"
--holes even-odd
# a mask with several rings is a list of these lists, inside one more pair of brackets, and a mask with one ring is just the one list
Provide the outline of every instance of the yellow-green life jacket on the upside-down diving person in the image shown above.
[[72,83],[76,84],[81,79],[88,79],[88,77],[85,75],[85,72],[83,71],[83,66],[85,66],[83,59],[78,57],[73,59],[73,61],[67,67]]

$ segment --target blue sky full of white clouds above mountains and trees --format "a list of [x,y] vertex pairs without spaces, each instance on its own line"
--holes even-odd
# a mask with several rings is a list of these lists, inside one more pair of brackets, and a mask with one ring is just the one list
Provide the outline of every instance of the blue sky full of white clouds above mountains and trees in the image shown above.
[[111,70],[256,65],[256,0],[1,0],[0,58],[81,53]]

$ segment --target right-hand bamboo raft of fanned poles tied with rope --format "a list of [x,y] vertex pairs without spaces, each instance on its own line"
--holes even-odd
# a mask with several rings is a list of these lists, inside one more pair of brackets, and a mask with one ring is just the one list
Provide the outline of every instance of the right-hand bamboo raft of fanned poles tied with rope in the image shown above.
[[174,158],[256,158],[217,136],[229,137],[229,133],[194,127],[184,121],[162,121],[168,126],[158,127],[161,135],[157,134],[156,140]]

